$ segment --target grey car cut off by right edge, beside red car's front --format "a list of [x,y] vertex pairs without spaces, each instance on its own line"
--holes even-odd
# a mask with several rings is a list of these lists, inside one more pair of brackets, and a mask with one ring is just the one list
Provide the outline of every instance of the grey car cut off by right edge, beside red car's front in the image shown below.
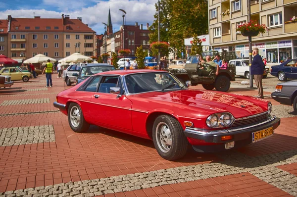
[[291,106],[293,104],[294,111],[297,113],[297,80],[278,84],[271,97],[282,104]]

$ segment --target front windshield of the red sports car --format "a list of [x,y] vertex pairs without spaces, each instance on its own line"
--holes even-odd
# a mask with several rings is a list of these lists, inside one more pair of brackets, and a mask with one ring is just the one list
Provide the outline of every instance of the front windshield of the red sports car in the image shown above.
[[125,77],[130,94],[187,88],[170,73],[137,73]]

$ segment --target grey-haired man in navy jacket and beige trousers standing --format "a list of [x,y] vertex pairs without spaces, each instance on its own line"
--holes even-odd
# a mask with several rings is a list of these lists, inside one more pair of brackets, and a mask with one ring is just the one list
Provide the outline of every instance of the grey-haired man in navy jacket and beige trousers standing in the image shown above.
[[252,50],[252,55],[254,56],[254,58],[251,62],[250,74],[253,75],[255,78],[256,86],[258,88],[258,98],[264,99],[262,77],[264,74],[265,65],[262,61],[262,57],[258,53],[258,48],[254,48]]

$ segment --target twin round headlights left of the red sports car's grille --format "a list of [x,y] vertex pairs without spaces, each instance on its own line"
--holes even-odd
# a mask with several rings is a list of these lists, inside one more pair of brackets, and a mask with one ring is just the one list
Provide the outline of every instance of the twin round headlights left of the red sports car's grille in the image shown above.
[[210,128],[229,127],[234,122],[234,117],[229,112],[215,113],[206,119],[206,124]]

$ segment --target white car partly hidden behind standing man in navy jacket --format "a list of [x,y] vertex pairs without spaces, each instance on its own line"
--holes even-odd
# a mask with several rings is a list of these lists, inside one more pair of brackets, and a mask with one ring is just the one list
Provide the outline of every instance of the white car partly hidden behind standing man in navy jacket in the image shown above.
[[[249,79],[249,60],[248,59],[231,59],[229,60],[229,64],[235,65],[236,74],[238,76],[245,76]],[[269,66],[265,66],[264,76],[263,78],[267,77],[269,73]]]

